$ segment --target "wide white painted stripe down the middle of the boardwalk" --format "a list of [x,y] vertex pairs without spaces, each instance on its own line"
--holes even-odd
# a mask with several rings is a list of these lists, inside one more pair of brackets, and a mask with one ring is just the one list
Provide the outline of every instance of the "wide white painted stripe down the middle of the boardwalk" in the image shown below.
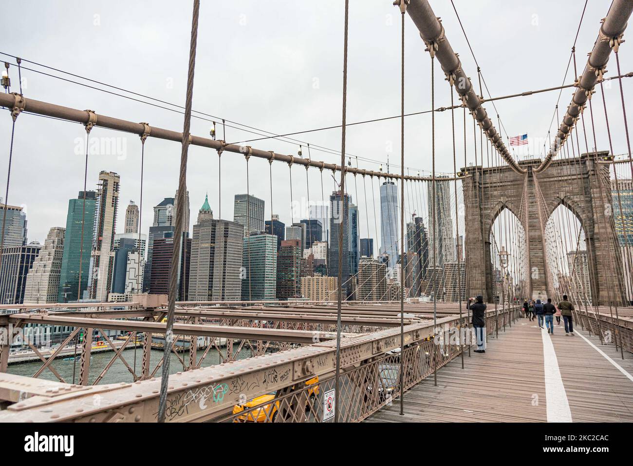
[[560,375],[558,358],[549,333],[541,330],[543,340],[543,365],[545,370],[545,405],[548,422],[572,422],[572,411],[565,385]]

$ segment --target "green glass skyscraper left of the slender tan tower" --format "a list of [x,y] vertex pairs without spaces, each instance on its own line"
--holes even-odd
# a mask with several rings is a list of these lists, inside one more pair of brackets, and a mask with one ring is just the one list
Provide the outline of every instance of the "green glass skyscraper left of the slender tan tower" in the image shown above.
[[[84,291],[88,287],[95,206],[95,191],[85,191],[85,193],[84,191],[79,191],[77,198],[68,200],[64,250],[61,257],[60,288],[57,295],[58,302],[77,301],[82,298]],[[79,275],[79,269],[81,269],[81,276]]]

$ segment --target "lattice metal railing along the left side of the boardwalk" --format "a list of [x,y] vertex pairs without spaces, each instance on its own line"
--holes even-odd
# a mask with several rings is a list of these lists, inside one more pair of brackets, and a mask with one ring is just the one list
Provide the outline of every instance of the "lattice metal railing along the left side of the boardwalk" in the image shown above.
[[[519,316],[520,306],[488,311],[487,334],[503,332]],[[360,422],[400,396],[400,358],[404,358],[407,391],[468,351],[473,337],[467,316],[445,325],[444,329],[436,328],[431,337],[405,346],[404,351],[388,351],[344,370],[339,382],[339,421]],[[313,377],[250,401],[242,400],[231,413],[213,422],[334,422],[333,406],[329,405],[334,384],[334,374]]]

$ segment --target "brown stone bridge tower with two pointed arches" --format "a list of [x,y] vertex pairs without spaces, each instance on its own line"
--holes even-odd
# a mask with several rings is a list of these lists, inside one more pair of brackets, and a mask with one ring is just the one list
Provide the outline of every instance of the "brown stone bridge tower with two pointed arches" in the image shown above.
[[546,267],[545,225],[562,204],[577,217],[586,236],[592,303],[624,302],[622,257],[611,216],[610,163],[599,162],[606,156],[608,152],[598,152],[597,157],[590,153],[555,160],[539,174],[533,171],[541,163],[536,159],[519,162],[525,174],[510,167],[461,169],[468,296],[482,294],[484,301],[493,302],[492,224],[509,209],[525,231],[526,297],[554,297],[553,277]]

